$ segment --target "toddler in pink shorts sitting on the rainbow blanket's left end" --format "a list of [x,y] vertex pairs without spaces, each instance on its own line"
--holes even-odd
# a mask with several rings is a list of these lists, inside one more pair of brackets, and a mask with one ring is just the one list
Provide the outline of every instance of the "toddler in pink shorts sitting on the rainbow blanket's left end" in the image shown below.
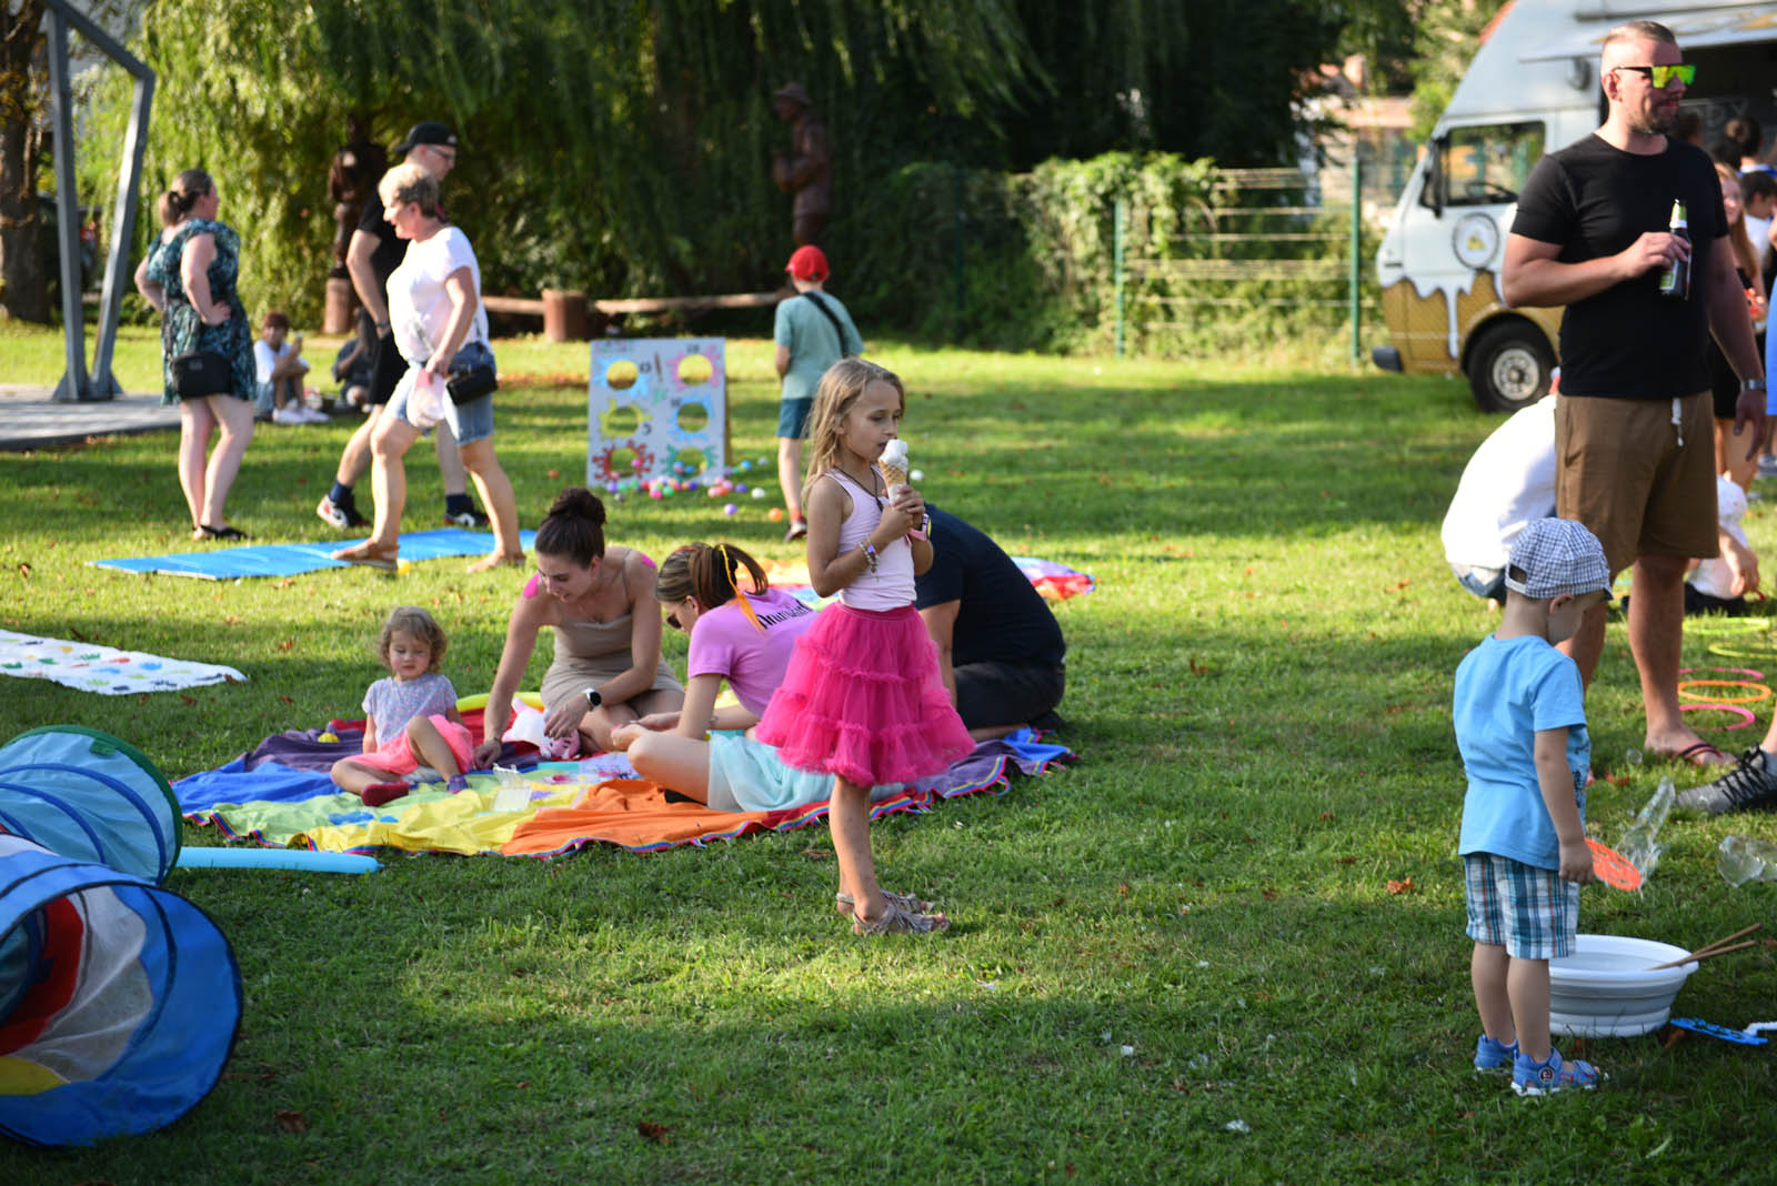
[[421,762],[451,779],[469,769],[469,730],[457,712],[457,689],[437,669],[444,630],[418,605],[402,605],[382,623],[377,657],[389,676],[364,692],[364,756],[339,758],[332,779],[380,808],[407,794],[403,774]]

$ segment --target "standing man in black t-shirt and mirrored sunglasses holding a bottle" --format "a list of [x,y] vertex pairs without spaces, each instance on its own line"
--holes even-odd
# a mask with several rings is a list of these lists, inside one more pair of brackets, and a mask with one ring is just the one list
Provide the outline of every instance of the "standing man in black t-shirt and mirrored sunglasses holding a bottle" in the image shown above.
[[[1605,37],[1603,126],[1542,158],[1518,199],[1500,288],[1512,305],[1566,305],[1555,405],[1557,515],[1603,542],[1612,575],[1635,566],[1630,646],[1640,669],[1649,755],[1718,765],[1725,756],[1679,714],[1685,568],[1715,556],[1709,334],[1743,389],[1734,433],[1765,428],[1765,368],[1734,277],[1722,188],[1709,158],[1669,135],[1693,67],[1672,30],[1630,21]],[[1674,202],[1690,241],[1669,229]],[[1688,298],[1661,273],[1690,263]],[[1606,609],[1564,646],[1590,682]]]

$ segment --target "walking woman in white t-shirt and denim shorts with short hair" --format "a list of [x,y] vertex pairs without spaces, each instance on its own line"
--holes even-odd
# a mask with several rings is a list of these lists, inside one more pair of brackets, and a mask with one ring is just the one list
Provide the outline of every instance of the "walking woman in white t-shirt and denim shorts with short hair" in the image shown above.
[[[437,179],[419,165],[396,165],[382,176],[377,194],[382,197],[382,217],[400,238],[409,240],[407,257],[389,275],[389,321],[394,344],[407,359],[407,375],[396,385],[370,442],[375,458],[375,529],[364,543],[334,552],[334,559],[394,570],[400,563],[396,538],[402,531],[402,508],[407,502],[407,467],[402,458],[423,435],[414,423],[418,417],[409,414],[416,387],[428,385],[442,392],[453,371],[492,366],[494,352],[487,344],[482,270],[469,238],[439,215]],[[483,396],[458,407],[448,394],[441,394],[441,399],[442,419],[457,433],[464,469],[474,478],[482,504],[494,520],[494,550],[469,565],[469,572],[522,565],[517,501],[506,470],[494,456],[494,401]]]

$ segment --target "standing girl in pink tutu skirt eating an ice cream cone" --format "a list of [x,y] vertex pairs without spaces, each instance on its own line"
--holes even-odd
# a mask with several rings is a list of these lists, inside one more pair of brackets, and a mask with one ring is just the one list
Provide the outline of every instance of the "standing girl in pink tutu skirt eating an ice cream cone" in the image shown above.
[[906,392],[892,371],[841,359],[809,414],[809,581],[839,593],[791,655],[755,737],[798,771],[833,776],[828,826],[841,913],[858,934],[944,930],[951,920],[910,893],[885,893],[871,858],[871,787],[936,774],[974,749],[913,609],[931,566],[926,501],[888,488],[876,458],[894,440]]

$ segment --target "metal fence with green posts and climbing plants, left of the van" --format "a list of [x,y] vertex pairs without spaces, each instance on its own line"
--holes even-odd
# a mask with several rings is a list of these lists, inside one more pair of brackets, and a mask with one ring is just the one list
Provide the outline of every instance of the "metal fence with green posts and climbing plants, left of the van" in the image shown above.
[[[1351,192],[1361,194],[1354,162]],[[1351,357],[1361,366],[1361,206],[1320,201],[1297,169],[1221,169],[1207,197],[1176,211],[1171,233],[1116,202],[1112,282],[1116,353],[1139,327],[1146,336],[1189,332],[1203,309],[1345,309]],[[1132,250],[1132,245],[1141,245]]]

